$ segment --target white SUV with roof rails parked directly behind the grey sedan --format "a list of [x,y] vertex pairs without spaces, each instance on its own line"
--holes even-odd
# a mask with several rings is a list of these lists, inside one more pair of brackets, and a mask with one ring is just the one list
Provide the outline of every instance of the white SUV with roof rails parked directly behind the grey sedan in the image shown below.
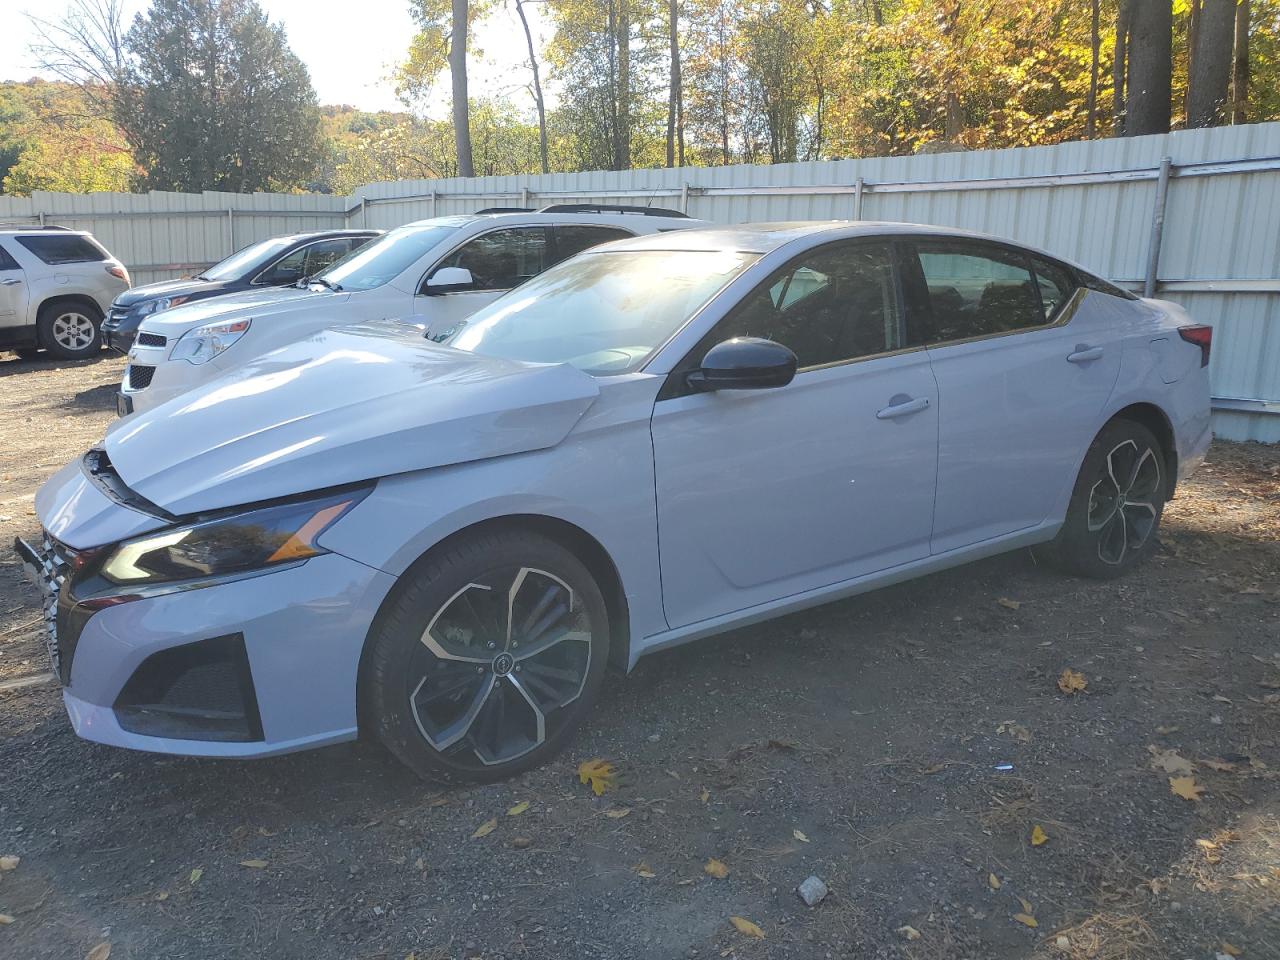
[[600,243],[705,227],[675,210],[561,205],[481,210],[390,230],[301,287],[268,288],[147,317],[116,399],[124,416],[329,326],[396,319],[444,339],[471,314]]

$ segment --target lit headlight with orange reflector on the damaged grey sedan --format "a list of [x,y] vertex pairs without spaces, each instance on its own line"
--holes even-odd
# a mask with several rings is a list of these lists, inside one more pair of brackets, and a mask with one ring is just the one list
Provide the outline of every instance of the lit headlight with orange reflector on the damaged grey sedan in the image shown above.
[[316,557],[319,536],[371,486],[160,530],[116,544],[97,568],[110,584],[204,580]]

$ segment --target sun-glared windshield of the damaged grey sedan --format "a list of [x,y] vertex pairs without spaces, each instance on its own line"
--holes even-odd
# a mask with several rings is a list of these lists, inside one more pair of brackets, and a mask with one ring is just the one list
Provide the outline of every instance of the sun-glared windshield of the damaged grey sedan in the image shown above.
[[626,374],[756,260],[737,251],[621,250],[552,268],[447,340],[472,353]]

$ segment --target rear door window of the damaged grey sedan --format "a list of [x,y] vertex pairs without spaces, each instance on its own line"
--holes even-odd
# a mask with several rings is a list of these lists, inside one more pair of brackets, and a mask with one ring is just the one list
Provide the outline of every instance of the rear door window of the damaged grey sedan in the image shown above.
[[1023,330],[1044,323],[1025,257],[969,243],[916,243],[932,311],[927,343]]

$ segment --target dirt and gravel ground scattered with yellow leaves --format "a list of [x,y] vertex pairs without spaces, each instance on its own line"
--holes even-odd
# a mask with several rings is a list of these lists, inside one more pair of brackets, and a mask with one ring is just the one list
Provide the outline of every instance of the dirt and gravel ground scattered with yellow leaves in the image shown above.
[[[5,544],[120,371],[0,358]],[[1216,444],[1164,530],[1119,582],[1021,550],[652,657],[471,788],[78,740],[12,686],[45,660],[5,545],[0,957],[1280,957],[1280,448]]]

